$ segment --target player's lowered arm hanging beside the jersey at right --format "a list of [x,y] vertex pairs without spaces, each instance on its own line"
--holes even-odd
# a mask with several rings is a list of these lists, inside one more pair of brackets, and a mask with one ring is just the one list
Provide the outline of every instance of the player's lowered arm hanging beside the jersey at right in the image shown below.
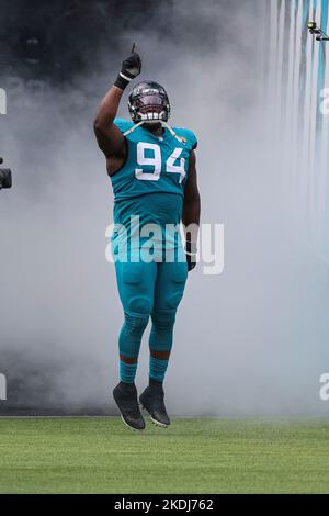
[[184,204],[182,222],[185,231],[185,253],[189,271],[196,265],[196,243],[200,226],[201,198],[197,188],[196,157],[194,150],[191,153],[189,176],[184,191]]

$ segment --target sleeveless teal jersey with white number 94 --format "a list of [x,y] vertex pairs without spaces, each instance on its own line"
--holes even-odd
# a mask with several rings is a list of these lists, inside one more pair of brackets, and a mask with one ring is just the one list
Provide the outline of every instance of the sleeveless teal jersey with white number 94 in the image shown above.
[[[122,119],[114,123],[122,133],[134,126]],[[143,125],[126,135],[126,161],[111,177],[115,224],[128,228],[132,216],[139,217],[139,226],[180,223],[190,156],[197,141],[192,131],[173,131],[180,141],[167,127],[160,137]]]

